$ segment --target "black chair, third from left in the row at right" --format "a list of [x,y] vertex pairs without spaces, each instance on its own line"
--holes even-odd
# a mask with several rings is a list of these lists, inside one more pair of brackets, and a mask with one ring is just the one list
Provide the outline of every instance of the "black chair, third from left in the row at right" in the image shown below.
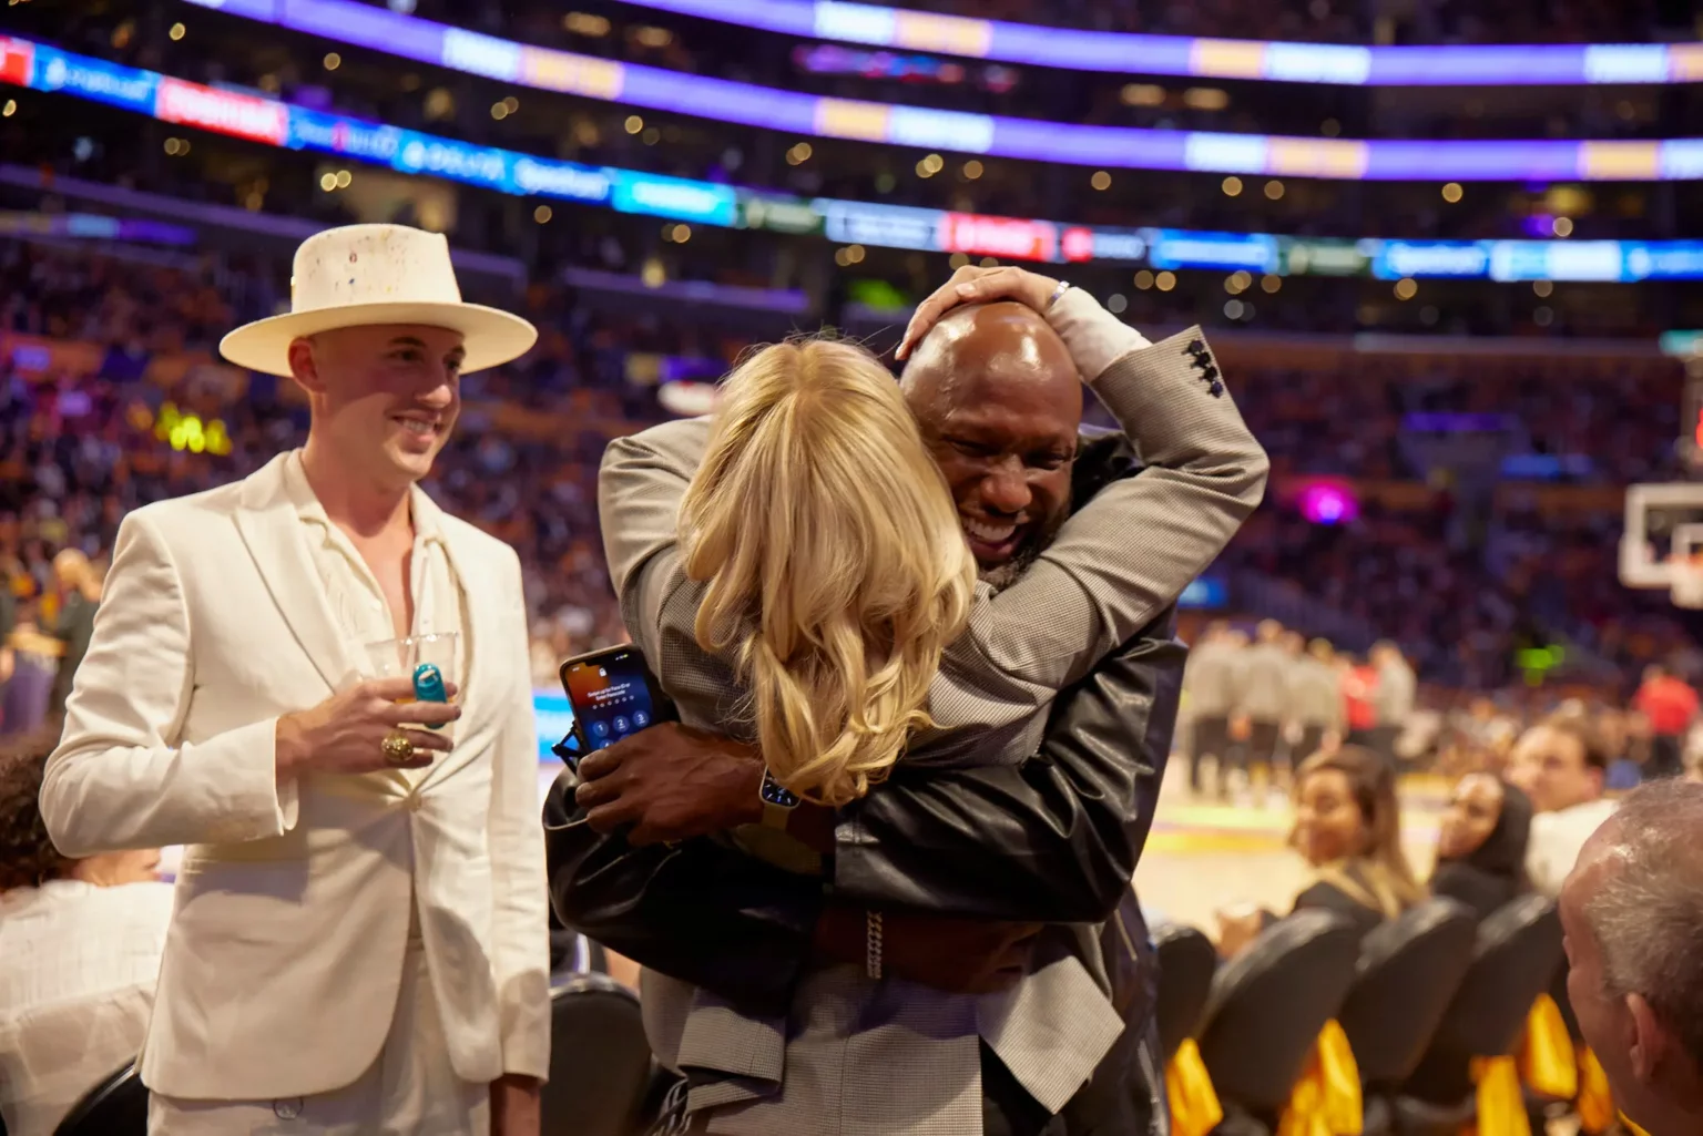
[[1451,899],[1427,899],[1361,944],[1337,1022],[1361,1070],[1366,1134],[1393,1124],[1390,1097],[1419,1068],[1473,962],[1478,920]]

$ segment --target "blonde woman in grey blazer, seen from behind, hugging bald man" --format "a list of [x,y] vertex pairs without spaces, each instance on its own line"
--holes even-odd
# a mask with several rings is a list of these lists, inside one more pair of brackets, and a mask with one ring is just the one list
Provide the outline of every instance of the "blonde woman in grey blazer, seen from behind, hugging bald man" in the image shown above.
[[[1150,467],[1001,591],[971,586],[952,496],[892,378],[853,347],[771,347],[729,378],[714,421],[605,458],[601,523],[635,642],[688,726],[756,741],[794,792],[867,792],[901,753],[1020,761],[1054,695],[1170,605],[1260,497],[1264,453],[1197,332],[1151,346],[1029,273],[955,281],[916,332],[1003,298],[1041,313],[1037,336],[1068,347]],[[979,1133],[983,1042],[1056,1112],[1122,1029],[1078,957],[964,996],[880,978],[872,944],[862,967],[807,974],[787,1020],[645,971],[652,1047],[693,1070],[705,1131]]]

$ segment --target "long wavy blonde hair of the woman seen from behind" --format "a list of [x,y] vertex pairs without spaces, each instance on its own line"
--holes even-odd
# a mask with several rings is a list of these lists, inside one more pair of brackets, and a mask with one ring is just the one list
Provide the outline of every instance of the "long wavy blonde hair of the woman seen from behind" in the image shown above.
[[928,727],[928,685],[969,617],[976,560],[892,375],[800,339],[722,385],[679,509],[695,634],[749,688],[775,780],[823,804],[869,792]]

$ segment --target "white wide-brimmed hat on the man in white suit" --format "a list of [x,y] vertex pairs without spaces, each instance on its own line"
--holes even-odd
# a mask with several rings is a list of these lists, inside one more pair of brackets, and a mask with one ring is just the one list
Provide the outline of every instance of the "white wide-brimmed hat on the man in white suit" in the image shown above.
[[238,327],[218,349],[237,366],[288,376],[293,339],[373,324],[462,332],[463,373],[518,359],[538,341],[538,329],[518,315],[462,303],[443,233],[407,225],[344,225],[296,249],[290,312]]

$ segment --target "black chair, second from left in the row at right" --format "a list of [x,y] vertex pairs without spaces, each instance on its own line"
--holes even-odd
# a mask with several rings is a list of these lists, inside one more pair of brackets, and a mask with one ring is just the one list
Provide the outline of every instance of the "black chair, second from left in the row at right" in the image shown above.
[[1359,933],[1328,911],[1296,911],[1219,967],[1201,1058],[1224,1105],[1224,1131],[1276,1129],[1318,1030],[1354,981]]

